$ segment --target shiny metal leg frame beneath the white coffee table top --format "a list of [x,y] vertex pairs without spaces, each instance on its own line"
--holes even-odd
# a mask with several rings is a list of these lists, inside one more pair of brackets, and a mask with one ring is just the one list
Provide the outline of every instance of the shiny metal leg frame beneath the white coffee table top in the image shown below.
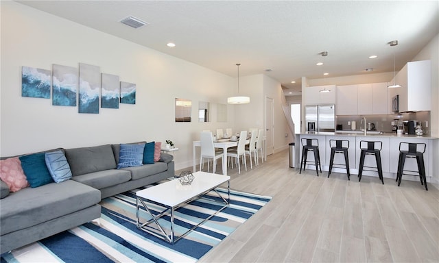
[[[181,206],[196,200],[196,199],[208,199],[210,201],[212,201],[212,199],[206,198],[206,197],[202,197],[202,195],[207,194],[208,192],[216,192],[218,197],[220,197],[222,199],[222,202],[217,202],[217,203],[222,203],[222,208],[219,208],[219,210],[217,210],[215,213],[209,215],[207,218],[204,218],[204,220],[202,220],[200,223],[198,223],[197,225],[194,225],[193,227],[191,227],[191,229],[187,230],[185,233],[181,234],[180,236],[176,236],[175,235],[175,226],[174,226],[174,220],[175,220],[175,212],[177,208],[180,208]],[[228,205],[230,204],[230,181],[228,181],[228,187],[227,187],[227,199],[225,199],[224,197],[222,197],[222,195],[219,194],[219,192],[217,192],[217,190],[215,188],[204,192],[202,195],[199,195],[198,197],[194,197],[193,199],[185,202],[185,203],[181,203],[180,205],[176,206],[176,207],[167,207],[166,205],[163,205],[161,203],[156,203],[147,199],[143,199],[141,197],[137,197],[137,201],[136,201],[136,223],[137,223],[137,227],[139,229],[143,229],[143,231],[146,231],[148,234],[152,234],[153,236],[156,236],[157,238],[161,238],[169,243],[171,243],[172,245],[174,245],[175,242],[177,242],[178,240],[180,240],[180,238],[185,237],[187,234],[189,234],[190,231],[192,231],[193,229],[199,227],[200,225],[202,225],[203,223],[205,223],[206,221],[208,221],[210,218],[212,218],[213,216],[216,216],[219,212],[221,212],[222,210],[224,210],[224,208],[227,208]],[[158,212],[158,214],[154,215],[152,213],[152,211],[150,210],[150,208],[147,207],[147,205],[145,204],[145,201],[148,201],[150,203],[154,203],[155,205],[159,205],[163,208],[165,208],[163,211]],[[141,223],[140,222],[140,208],[141,205],[143,206],[143,208],[145,208],[145,211],[150,214],[150,216],[152,217],[150,220],[146,221],[145,223]],[[158,222],[158,220],[163,217],[163,216],[167,216],[169,215],[169,221],[171,223],[171,229],[170,229],[170,233],[167,234],[166,230],[162,227],[162,225]],[[151,227],[150,224],[151,223],[155,223],[156,228],[155,227]]]

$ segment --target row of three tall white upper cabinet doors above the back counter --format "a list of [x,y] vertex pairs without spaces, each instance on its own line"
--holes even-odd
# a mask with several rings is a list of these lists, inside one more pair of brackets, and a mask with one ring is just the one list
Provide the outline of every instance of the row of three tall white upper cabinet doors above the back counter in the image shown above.
[[337,86],[337,115],[388,114],[387,83]]

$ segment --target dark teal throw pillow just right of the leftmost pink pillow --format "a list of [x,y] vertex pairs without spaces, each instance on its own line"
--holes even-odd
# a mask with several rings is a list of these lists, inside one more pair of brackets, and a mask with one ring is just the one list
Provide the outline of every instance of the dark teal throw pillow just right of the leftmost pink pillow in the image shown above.
[[45,153],[34,153],[19,157],[30,187],[44,186],[54,181],[46,166]]

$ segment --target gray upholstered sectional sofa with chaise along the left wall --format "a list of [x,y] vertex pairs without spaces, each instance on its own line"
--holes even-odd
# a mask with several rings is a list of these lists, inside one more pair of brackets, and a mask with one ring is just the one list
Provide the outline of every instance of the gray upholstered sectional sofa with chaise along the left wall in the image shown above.
[[173,156],[167,153],[154,164],[117,169],[120,145],[63,151],[73,175],[67,181],[8,195],[0,181],[0,253],[99,218],[99,201],[106,197],[174,176]]

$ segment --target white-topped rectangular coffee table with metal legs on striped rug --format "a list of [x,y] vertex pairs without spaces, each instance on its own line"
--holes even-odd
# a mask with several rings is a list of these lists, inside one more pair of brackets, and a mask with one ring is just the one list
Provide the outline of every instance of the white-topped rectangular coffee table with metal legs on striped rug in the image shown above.
[[[150,188],[146,188],[143,190],[140,190],[136,193],[137,195],[137,227],[140,229],[143,229],[149,234],[152,234],[158,238],[162,238],[163,240],[166,240],[167,242],[170,242],[171,244],[174,244],[177,240],[180,238],[186,236],[190,231],[197,228],[202,223],[208,221],[212,216],[215,216],[224,208],[228,207],[228,204],[230,202],[230,176],[227,175],[217,175],[214,173],[205,173],[205,172],[195,172],[193,173],[194,179],[190,186],[182,186],[180,184],[180,181],[178,179],[173,179],[171,181],[167,181],[163,184],[158,184],[156,186],[152,186]],[[215,190],[219,185],[224,184],[227,182],[227,189],[228,189],[228,198],[224,199],[221,195],[219,195],[219,192]],[[177,208],[180,208],[181,206],[195,200],[204,198],[202,195],[214,191],[217,193],[219,197],[221,197],[222,202],[218,202],[222,204],[222,208],[217,210],[215,213],[211,214],[207,218],[205,218],[203,221],[198,223],[197,225],[194,225],[186,231],[183,234],[180,234],[179,236],[175,236],[175,227],[174,227],[174,214]],[[212,199],[209,199],[213,201]],[[154,204],[155,206],[160,206],[161,208],[164,208],[163,211],[158,212],[158,214],[154,215],[152,213],[152,207],[148,207],[145,204],[145,201],[150,202]],[[140,209],[141,206],[145,208],[146,212],[150,214],[152,217],[150,220],[141,223],[140,221]],[[171,223],[171,229],[170,233],[168,234],[167,231],[165,231],[165,228],[158,222],[158,220],[163,217],[170,215],[170,223]],[[155,223],[156,227],[153,227],[151,224]]]

